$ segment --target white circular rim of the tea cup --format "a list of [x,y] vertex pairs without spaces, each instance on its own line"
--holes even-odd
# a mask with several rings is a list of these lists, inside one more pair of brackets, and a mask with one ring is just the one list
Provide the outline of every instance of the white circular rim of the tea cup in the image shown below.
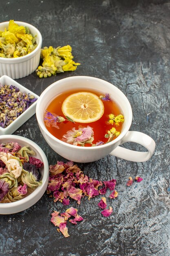
[[[47,130],[45,124],[44,124],[44,121],[43,121],[43,118],[39,115],[39,108],[41,108],[41,100],[42,98],[44,97],[44,95],[46,95],[48,93],[49,90],[51,90],[51,88],[55,87],[58,83],[61,83],[61,82],[64,82],[65,80],[66,81],[69,81],[69,80],[73,80],[73,79],[94,79],[94,80],[98,80],[100,82],[104,82],[108,85],[112,85],[115,90],[117,92],[119,92],[122,97],[124,97],[127,105],[129,106],[128,108],[128,114],[129,114],[129,119],[128,119],[128,123],[126,124],[126,128],[124,128],[124,130],[120,133],[120,135],[115,138],[113,141],[110,141],[109,143],[107,144],[103,144],[103,145],[100,145],[100,146],[93,146],[93,147],[78,147],[78,146],[75,146],[75,145],[72,145],[72,144],[68,144],[60,139],[57,139],[55,136],[53,136],[49,130]],[[49,85],[43,92],[42,94],[40,95],[39,99],[38,99],[38,102],[37,102],[37,105],[36,105],[36,117],[37,117],[37,121],[38,121],[38,125],[40,127],[40,129],[43,130],[43,132],[45,132],[45,134],[52,140],[55,140],[57,141],[58,143],[62,144],[63,146],[67,146],[68,148],[79,148],[80,151],[88,151],[88,150],[102,150],[104,148],[107,148],[108,146],[112,146],[114,144],[116,144],[118,141],[121,141],[121,139],[126,135],[126,133],[128,132],[130,126],[131,126],[131,123],[132,123],[132,108],[131,108],[131,105],[130,105],[130,102],[128,100],[128,98],[126,97],[126,95],[119,89],[117,88],[115,85],[113,85],[112,83],[109,83],[108,81],[105,81],[103,79],[99,79],[97,77],[93,77],[93,76],[70,76],[70,77],[66,77],[64,79],[60,79],[58,81],[55,81],[54,83],[52,83],[51,85]],[[47,142],[48,143],[48,142]],[[120,143],[119,143],[120,144]]]

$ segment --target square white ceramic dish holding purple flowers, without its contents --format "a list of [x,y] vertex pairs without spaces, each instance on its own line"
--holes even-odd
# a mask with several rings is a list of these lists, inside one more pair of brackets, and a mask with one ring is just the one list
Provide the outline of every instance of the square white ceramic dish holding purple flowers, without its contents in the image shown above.
[[[30,90],[28,90],[26,87],[22,86],[20,83],[17,83],[15,80],[11,79],[9,76],[1,76],[0,77],[0,85],[15,85],[17,88],[19,88],[20,92],[26,92],[26,94],[31,94],[35,98],[38,98],[39,96]],[[22,124],[24,124],[30,117],[32,117],[35,114],[35,109],[37,105],[37,101],[33,102],[29,108],[27,108],[19,117],[17,117],[9,126],[6,128],[0,127],[0,135],[5,134],[12,134],[17,130]]]

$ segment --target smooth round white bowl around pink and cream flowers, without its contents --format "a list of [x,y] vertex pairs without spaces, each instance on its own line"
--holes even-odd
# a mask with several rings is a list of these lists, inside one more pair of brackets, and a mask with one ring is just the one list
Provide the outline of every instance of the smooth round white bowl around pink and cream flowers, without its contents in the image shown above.
[[24,211],[25,209],[28,209],[42,197],[42,195],[46,191],[46,188],[49,182],[49,164],[48,164],[46,155],[44,154],[42,149],[37,144],[35,144],[35,142],[21,136],[17,136],[17,135],[1,135],[0,136],[0,144],[11,142],[11,141],[18,142],[21,146],[29,146],[36,153],[36,155],[33,155],[33,157],[40,159],[44,163],[44,167],[41,169],[42,185],[38,186],[33,191],[33,193],[31,193],[27,197],[17,202],[0,203],[0,214],[18,213],[20,211]]

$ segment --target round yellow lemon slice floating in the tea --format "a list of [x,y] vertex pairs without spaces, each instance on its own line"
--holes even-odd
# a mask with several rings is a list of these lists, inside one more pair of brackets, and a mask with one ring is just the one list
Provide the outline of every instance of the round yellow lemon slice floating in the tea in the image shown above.
[[102,117],[104,105],[102,100],[94,93],[76,92],[64,100],[62,112],[75,122],[92,123]]

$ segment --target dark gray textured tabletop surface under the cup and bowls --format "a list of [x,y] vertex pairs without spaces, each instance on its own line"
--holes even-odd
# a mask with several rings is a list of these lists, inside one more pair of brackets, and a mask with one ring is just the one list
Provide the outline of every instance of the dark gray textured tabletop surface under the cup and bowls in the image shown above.
[[[133,111],[130,130],[156,141],[148,162],[133,163],[107,156],[79,164],[99,180],[117,179],[113,214],[104,218],[99,197],[77,206],[85,220],[68,225],[64,238],[50,222],[53,210],[66,209],[48,195],[21,213],[0,216],[0,256],[169,256],[170,255],[170,1],[166,0],[0,0],[0,22],[29,22],[42,33],[43,47],[70,44],[82,65],[39,79],[35,72],[17,81],[40,95],[51,83],[73,75],[95,76],[115,84]],[[35,115],[15,135],[35,141],[49,164],[63,160],[46,144]],[[136,145],[127,144],[136,149]],[[126,187],[128,176],[143,182]]]

